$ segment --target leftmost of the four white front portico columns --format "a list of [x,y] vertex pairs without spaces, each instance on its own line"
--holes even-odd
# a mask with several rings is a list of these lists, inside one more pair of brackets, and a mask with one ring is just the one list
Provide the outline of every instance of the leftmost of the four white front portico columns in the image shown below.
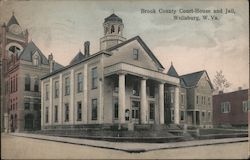
[[125,74],[119,74],[119,120],[125,123]]

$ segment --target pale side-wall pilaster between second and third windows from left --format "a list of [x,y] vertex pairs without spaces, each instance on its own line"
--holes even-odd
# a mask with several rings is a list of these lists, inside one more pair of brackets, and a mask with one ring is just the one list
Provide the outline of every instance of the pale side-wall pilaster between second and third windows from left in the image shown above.
[[63,123],[63,79],[62,74],[59,75],[59,106],[58,106],[58,122]]

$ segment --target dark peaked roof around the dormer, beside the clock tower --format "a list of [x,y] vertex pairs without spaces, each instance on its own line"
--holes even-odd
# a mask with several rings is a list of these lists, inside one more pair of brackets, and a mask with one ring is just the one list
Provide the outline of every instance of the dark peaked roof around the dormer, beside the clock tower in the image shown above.
[[44,56],[44,54],[40,51],[40,49],[35,45],[33,41],[30,41],[28,45],[24,48],[22,53],[19,56],[19,59],[24,61],[32,62],[32,55],[35,52],[38,52],[41,57],[42,64],[49,64],[48,59]]

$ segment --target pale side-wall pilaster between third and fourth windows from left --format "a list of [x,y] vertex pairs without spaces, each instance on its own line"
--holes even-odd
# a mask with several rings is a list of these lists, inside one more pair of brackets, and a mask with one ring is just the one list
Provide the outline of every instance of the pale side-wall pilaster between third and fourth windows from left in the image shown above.
[[69,122],[74,124],[75,122],[75,79],[74,79],[74,69],[70,71],[70,107],[69,107]]

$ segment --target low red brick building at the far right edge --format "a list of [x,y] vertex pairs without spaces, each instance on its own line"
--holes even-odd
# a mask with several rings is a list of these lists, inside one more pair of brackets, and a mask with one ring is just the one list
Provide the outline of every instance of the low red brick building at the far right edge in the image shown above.
[[213,123],[215,126],[247,126],[249,109],[247,89],[220,92],[213,96]]

